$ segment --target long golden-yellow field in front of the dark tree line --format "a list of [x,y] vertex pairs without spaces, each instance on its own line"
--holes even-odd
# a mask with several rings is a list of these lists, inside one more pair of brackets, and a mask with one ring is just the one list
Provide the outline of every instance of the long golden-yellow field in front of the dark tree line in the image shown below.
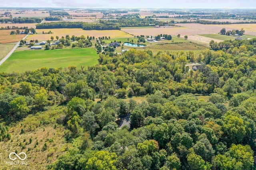
[[[52,34],[42,34],[42,32],[49,32],[52,31]],[[95,36],[95,37],[102,37],[102,36],[110,36],[112,38],[114,37],[133,37],[132,35],[129,35],[128,33],[125,33],[124,31],[120,30],[83,30],[80,28],[60,28],[60,29],[36,29],[36,32],[38,34],[34,35],[29,35],[27,37],[27,40],[31,39],[38,39],[39,41],[47,40],[50,39],[51,36],[56,36],[62,37],[69,35],[70,37],[72,35],[75,36]]]

